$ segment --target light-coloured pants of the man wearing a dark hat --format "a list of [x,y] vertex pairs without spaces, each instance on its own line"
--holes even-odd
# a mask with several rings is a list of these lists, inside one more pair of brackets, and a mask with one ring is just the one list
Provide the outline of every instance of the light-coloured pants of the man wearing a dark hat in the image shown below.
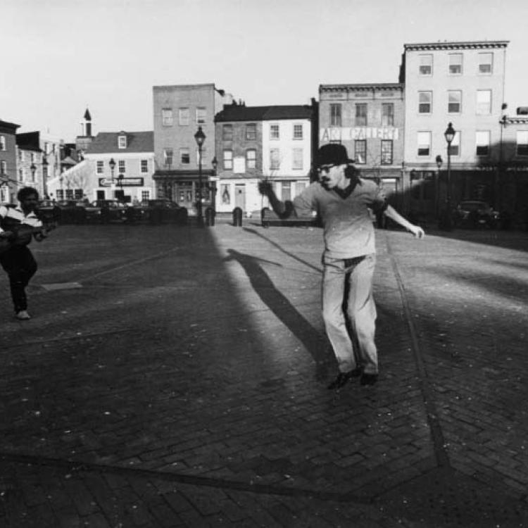
[[[347,266],[349,260],[353,262]],[[377,350],[374,342],[377,314],[372,297],[376,256],[366,255],[360,262],[357,260],[360,259],[323,259],[322,318],[339,370],[348,372],[359,366],[363,367],[366,374],[377,374]],[[346,299],[345,293],[348,294]],[[357,338],[356,354],[348,334],[344,307]]]

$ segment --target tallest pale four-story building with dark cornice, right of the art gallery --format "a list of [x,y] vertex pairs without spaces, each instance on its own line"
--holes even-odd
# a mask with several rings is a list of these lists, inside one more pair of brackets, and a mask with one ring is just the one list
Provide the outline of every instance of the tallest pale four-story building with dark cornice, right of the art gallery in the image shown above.
[[[453,124],[451,200],[496,199],[496,171],[482,170],[501,141],[508,41],[405,44],[405,175],[408,203],[421,213],[446,207],[447,143]],[[441,171],[441,172],[440,172]],[[494,205],[498,206],[497,203]]]

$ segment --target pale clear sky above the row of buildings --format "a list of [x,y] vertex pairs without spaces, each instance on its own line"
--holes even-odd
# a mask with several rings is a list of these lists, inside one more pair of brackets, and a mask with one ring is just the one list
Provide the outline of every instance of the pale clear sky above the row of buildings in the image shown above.
[[248,106],[319,84],[397,82],[403,44],[509,40],[528,105],[528,0],[0,0],[0,119],[74,142],[152,130],[152,87],[214,82]]

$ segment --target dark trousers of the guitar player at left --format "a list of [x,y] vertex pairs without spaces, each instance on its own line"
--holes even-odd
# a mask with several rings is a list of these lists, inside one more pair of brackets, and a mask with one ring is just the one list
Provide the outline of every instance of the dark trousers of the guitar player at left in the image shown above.
[[0,255],[0,264],[9,277],[15,313],[27,310],[25,288],[37,272],[37,262],[27,246],[14,246]]

